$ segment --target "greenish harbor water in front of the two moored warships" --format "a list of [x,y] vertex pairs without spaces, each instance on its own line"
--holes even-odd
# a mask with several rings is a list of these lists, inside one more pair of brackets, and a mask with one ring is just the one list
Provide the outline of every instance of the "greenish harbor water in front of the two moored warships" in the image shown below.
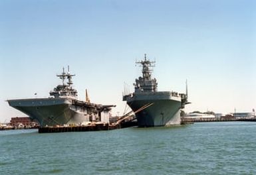
[[1,174],[256,174],[256,123],[0,131]]

